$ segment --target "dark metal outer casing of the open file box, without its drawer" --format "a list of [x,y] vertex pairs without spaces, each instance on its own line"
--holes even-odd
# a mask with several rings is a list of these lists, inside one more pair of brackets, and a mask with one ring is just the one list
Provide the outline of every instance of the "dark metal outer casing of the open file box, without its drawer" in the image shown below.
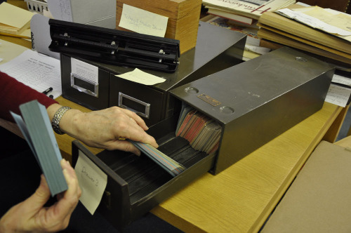
[[219,173],[317,112],[333,72],[325,62],[280,48],[170,92],[223,127],[213,170]]

